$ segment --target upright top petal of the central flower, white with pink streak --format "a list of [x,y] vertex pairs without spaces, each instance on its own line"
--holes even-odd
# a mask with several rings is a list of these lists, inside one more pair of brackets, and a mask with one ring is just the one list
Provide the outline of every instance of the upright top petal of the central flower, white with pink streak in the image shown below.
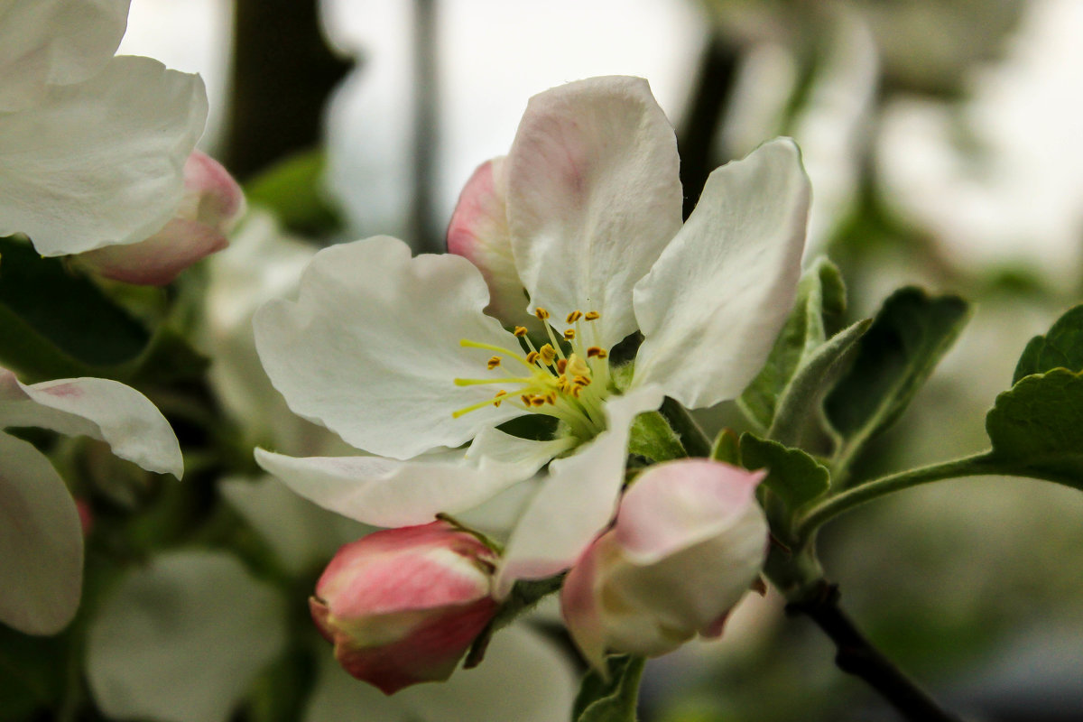
[[554,317],[602,314],[602,345],[636,330],[631,288],[680,228],[673,127],[641,78],[535,95],[506,163],[516,265]]

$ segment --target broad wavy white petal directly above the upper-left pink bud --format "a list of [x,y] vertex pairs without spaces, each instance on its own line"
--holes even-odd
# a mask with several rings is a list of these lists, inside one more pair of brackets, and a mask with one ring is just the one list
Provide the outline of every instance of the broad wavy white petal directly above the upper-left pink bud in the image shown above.
[[0,235],[25,233],[42,255],[149,237],[181,200],[206,118],[203,80],[147,57],[51,87],[0,116]]

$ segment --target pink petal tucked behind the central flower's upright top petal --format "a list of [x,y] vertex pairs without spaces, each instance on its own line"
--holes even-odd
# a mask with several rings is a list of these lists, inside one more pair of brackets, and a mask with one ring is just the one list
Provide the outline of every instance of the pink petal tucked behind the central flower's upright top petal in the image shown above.
[[511,255],[504,163],[504,158],[487,160],[467,181],[447,226],[447,252],[469,259],[485,277],[485,313],[505,326],[522,326],[533,316]]

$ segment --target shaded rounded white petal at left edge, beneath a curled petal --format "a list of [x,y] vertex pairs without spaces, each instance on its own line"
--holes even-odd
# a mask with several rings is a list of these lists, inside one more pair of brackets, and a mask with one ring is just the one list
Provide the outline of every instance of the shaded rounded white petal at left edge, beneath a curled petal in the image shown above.
[[0,432],[0,622],[53,634],[75,616],[82,528],[64,481],[40,451]]

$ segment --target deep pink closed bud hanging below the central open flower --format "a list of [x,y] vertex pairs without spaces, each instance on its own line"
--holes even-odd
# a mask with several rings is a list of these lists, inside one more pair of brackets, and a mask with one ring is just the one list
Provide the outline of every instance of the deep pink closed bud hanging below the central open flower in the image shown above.
[[309,600],[335,658],[384,694],[446,680],[496,614],[496,554],[446,522],[342,547]]

